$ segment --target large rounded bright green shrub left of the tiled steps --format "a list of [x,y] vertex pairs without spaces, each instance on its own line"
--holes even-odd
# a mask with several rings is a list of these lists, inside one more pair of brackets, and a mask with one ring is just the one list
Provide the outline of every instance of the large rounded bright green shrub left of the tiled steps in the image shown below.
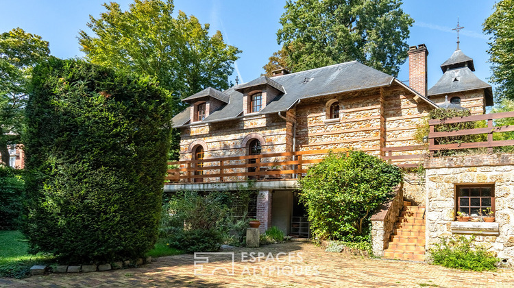
[[313,235],[319,240],[367,241],[371,214],[392,197],[400,181],[400,169],[375,156],[358,151],[328,154],[299,181]]

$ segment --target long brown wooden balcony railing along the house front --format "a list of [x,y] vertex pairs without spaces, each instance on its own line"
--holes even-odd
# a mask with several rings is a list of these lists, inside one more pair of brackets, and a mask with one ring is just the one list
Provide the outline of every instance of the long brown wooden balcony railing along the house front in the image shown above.
[[[350,149],[319,149],[299,152],[271,153],[223,158],[206,158],[169,162],[178,168],[168,169],[168,184],[176,182],[243,182],[245,180],[297,179],[309,165],[320,163],[329,151]],[[249,163],[250,161],[254,163]],[[278,167],[279,169],[273,169]],[[254,170],[254,171],[251,171]]]

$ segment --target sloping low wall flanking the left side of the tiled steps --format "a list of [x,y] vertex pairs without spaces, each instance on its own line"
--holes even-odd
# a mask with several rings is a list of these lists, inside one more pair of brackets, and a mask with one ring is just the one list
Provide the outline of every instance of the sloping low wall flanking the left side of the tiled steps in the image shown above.
[[403,208],[402,184],[395,191],[396,195],[393,200],[384,204],[378,209],[378,212],[371,216],[371,249],[374,256],[384,255],[384,250],[387,249],[389,238],[393,233],[394,224]]

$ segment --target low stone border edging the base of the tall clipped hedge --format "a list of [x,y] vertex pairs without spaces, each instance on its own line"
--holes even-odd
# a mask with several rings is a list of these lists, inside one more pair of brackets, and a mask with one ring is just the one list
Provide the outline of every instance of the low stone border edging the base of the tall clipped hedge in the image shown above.
[[[89,273],[89,272],[103,272],[109,270],[117,270],[122,268],[129,268],[134,266],[140,266],[143,264],[151,263],[152,258],[148,256],[146,259],[137,259],[134,263],[133,261],[118,261],[113,263],[106,264],[90,264],[90,265],[57,265],[55,269],[51,268],[51,265],[34,265],[30,267],[31,275],[43,275],[45,273]],[[49,271],[51,270],[51,271]]]

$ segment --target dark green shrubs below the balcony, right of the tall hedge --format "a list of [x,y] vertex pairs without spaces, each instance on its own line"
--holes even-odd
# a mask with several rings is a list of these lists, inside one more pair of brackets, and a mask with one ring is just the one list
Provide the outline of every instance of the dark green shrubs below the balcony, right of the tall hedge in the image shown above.
[[[255,193],[251,183],[236,193],[175,193],[163,205],[160,237],[186,252],[215,251],[221,243],[243,245],[248,205]],[[209,237],[201,238],[201,231]]]

